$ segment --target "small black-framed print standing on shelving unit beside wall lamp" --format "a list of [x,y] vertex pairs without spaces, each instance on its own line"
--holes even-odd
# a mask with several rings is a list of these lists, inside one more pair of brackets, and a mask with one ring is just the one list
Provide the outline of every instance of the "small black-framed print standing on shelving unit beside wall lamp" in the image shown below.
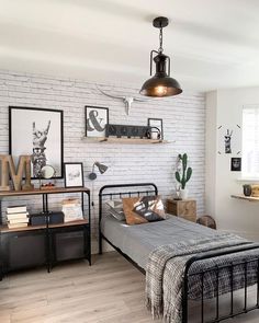
[[82,163],[64,163],[65,187],[83,187]]

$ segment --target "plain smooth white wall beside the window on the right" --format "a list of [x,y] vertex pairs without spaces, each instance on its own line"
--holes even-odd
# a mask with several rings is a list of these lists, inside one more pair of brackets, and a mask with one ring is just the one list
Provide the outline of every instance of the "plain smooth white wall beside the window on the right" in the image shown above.
[[[241,148],[241,109],[246,104],[259,104],[259,88],[218,90],[206,94],[206,212],[214,216],[223,230],[259,240],[259,204],[230,198],[241,194],[240,172],[230,172],[230,157],[218,154],[217,127],[234,129],[233,139]],[[214,162],[215,161],[215,162]]]

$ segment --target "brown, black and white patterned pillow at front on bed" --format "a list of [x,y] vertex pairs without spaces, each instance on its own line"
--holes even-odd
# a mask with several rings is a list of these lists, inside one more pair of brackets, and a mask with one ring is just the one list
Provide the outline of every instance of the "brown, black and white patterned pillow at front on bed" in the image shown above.
[[142,224],[166,219],[160,196],[123,198],[127,224]]

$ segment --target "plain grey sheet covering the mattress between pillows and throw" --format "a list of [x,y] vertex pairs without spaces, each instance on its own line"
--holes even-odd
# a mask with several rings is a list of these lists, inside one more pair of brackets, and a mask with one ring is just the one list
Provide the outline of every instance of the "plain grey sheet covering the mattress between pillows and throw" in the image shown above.
[[156,247],[193,238],[210,238],[222,233],[210,228],[169,216],[165,221],[127,226],[112,216],[103,216],[103,235],[142,268],[146,269],[148,255]]

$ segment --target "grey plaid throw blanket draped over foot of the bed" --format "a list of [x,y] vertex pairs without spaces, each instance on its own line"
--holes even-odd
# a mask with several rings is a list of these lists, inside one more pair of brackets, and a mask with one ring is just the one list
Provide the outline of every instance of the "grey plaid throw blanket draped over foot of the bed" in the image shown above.
[[[210,239],[196,239],[157,247],[149,254],[146,268],[146,305],[147,309],[151,311],[153,318],[164,318],[164,322],[168,323],[181,322],[182,284],[185,264],[189,258],[199,253],[221,249],[229,250],[248,243],[249,242],[243,238],[230,233],[222,233]],[[257,252],[259,254],[259,251]],[[233,254],[232,261],[234,257]],[[223,259],[224,258],[225,256]],[[203,262],[204,261],[195,263],[195,270],[201,269],[199,266],[201,266],[200,264]],[[215,258],[206,262],[211,267],[215,266]],[[221,264],[224,264],[224,262]],[[256,279],[256,276],[254,278]],[[199,280],[199,284],[201,285],[200,277],[198,277],[196,280]],[[237,279],[237,281],[239,280],[240,279]],[[250,281],[250,284],[251,282],[252,281]],[[254,281],[254,284],[255,282],[256,281]],[[207,288],[212,288],[212,286],[209,286]],[[236,286],[236,289],[237,288],[241,287]],[[228,290],[219,290],[219,293],[227,291]]]

